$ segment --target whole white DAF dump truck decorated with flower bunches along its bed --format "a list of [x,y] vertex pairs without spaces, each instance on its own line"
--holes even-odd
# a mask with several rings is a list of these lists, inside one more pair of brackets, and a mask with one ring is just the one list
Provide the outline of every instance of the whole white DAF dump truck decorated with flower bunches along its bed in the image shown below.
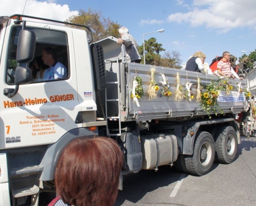
[[[16,14],[2,16],[0,29],[0,205],[38,205],[76,138],[116,140],[120,189],[122,175],[142,169],[170,164],[202,176],[214,160],[236,159],[245,80],[129,63],[116,38],[92,43],[83,25]],[[66,78],[33,78],[29,67],[49,46]],[[229,91],[216,89],[220,81]]]

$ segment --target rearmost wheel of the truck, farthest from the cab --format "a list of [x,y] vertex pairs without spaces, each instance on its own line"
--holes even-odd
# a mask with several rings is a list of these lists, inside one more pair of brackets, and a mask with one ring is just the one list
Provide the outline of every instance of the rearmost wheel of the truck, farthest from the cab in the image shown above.
[[215,136],[215,150],[219,163],[234,162],[237,153],[237,135],[231,126],[220,127]]

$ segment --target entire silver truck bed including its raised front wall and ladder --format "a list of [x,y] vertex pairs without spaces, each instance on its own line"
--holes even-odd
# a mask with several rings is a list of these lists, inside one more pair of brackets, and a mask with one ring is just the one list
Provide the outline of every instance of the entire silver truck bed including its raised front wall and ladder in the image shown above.
[[[106,98],[108,119],[121,119],[121,122],[137,121],[146,122],[152,119],[173,120],[179,117],[207,116],[207,112],[202,109],[201,102],[197,102],[198,78],[201,80],[205,91],[206,84],[211,81],[218,82],[219,78],[215,75],[206,75],[197,72],[177,70],[175,68],[159,67],[146,64],[127,63],[125,56],[125,46],[116,43],[117,39],[109,37],[98,42],[103,47],[104,59],[106,62],[106,96],[102,94],[101,98]],[[156,68],[155,81],[159,86],[156,98],[149,98],[148,88],[150,85],[150,69]],[[168,78],[172,95],[169,97],[161,94],[162,74]],[[175,91],[177,88],[177,74],[180,76],[180,86],[185,93],[185,84],[192,83],[191,89],[194,98],[189,101],[186,98],[175,100]],[[142,78],[144,95],[134,101],[132,97],[132,87],[135,76]],[[225,91],[219,94],[218,105],[223,113],[237,114],[244,111],[246,97],[242,92],[238,92],[238,85],[246,87],[246,80],[230,79],[233,90],[229,95]],[[105,97],[103,97],[105,96]],[[101,100],[103,102],[103,100]],[[220,111],[218,111],[220,113]],[[214,114],[214,112],[210,112]]]

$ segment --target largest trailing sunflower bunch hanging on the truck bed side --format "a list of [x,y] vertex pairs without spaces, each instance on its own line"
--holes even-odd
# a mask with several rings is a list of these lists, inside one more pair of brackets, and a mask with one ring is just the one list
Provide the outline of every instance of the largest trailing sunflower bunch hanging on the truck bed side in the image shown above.
[[[204,111],[207,112],[208,116],[210,112],[214,112],[217,115],[217,111],[223,114],[223,111],[218,106],[219,87],[212,80],[206,85],[205,92],[201,94],[201,105]],[[209,116],[209,118],[212,118]]]

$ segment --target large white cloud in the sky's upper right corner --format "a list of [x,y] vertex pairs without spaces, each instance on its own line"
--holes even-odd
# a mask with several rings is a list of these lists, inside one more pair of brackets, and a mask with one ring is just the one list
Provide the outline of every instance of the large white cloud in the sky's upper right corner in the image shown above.
[[255,8],[256,1],[251,0],[194,0],[188,12],[170,14],[167,21],[185,22],[191,27],[206,26],[218,32],[237,27],[256,29]]

